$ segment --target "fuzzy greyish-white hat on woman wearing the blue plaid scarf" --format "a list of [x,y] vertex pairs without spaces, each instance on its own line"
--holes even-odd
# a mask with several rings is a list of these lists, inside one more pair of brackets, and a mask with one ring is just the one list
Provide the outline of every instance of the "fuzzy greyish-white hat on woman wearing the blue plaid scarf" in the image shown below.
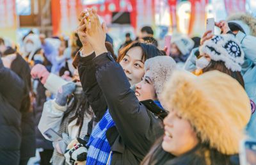
[[157,97],[163,91],[164,83],[172,75],[176,63],[170,56],[156,56],[145,62],[145,75],[148,75],[154,83]]

